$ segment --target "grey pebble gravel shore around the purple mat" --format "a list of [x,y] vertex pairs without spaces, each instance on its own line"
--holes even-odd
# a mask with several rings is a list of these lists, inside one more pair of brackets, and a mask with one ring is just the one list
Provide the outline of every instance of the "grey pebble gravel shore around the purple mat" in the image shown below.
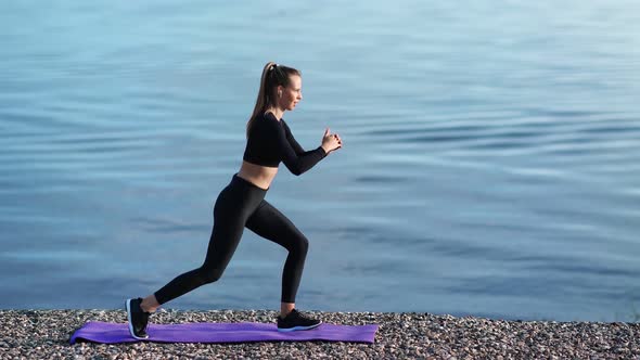
[[[374,344],[69,344],[87,321],[124,310],[0,310],[1,359],[640,359],[640,323],[503,321],[430,313],[308,311],[323,322],[380,324]],[[272,310],[157,311],[154,323],[273,322]]]

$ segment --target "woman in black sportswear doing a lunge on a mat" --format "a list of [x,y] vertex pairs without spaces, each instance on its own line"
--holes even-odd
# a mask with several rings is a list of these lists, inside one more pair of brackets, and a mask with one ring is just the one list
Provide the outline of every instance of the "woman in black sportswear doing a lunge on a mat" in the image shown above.
[[247,142],[242,167],[214,205],[214,229],[204,263],[178,275],[144,299],[127,299],[131,336],[148,338],[149,316],[161,305],[220,279],[245,227],[289,250],[282,272],[278,330],[308,330],[321,323],[295,309],[308,241],[284,215],[265,201],[280,162],[298,176],[342,147],[340,136],[330,133],[329,128],[324,131],[321,145],[315,150],[305,151],[296,142],[282,115],[294,110],[302,99],[300,73],[269,62],[263,70],[256,106],[246,126]]

